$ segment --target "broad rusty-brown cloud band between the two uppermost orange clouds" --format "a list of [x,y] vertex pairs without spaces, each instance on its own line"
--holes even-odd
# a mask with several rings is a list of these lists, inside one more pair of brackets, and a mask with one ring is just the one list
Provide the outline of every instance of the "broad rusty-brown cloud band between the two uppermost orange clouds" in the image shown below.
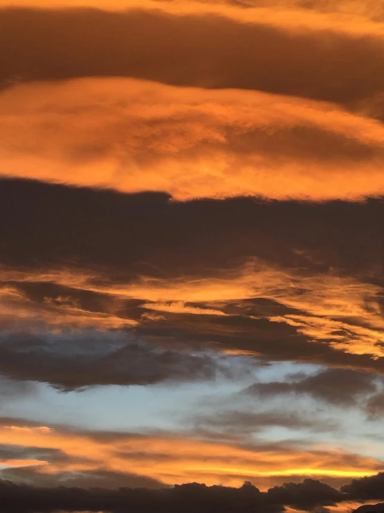
[[[161,10],[3,9],[1,80],[132,76],[354,103],[383,91],[383,40]],[[186,59],[187,56],[187,59]]]

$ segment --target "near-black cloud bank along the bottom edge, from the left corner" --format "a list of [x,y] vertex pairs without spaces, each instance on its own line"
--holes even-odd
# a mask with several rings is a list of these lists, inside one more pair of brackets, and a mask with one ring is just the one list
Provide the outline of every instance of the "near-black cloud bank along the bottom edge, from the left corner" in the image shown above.
[[[118,491],[105,489],[85,490],[79,488],[38,489],[23,485],[12,485],[10,482],[0,482],[4,513],[10,511],[27,513],[30,511],[53,512],[93,511],[101,510],[112,513],[121,510],[141,512],[156,510],[169,512],[182,510],[193,512],[197,507],[202,511],[213,512],[218,508],[229,511],[236,507],[239,512],[246,512],[257,505],[267,512],[280,512],[281,505],[269,505],[261,492],[250,486],[243,489],[225,487],[206,487],[191,483],[166,490],[128,489]],[[230,509],[229,509],[230,508]]]

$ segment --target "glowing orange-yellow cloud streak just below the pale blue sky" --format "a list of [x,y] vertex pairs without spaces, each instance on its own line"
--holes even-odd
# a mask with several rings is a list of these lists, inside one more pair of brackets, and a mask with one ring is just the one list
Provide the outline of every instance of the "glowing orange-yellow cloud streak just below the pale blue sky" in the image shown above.
[[[378,461],[336,450],[241,448],[198,441],[177,435],[87,435],[46,427],[2,426],[0,443],[59,449],[69,457],[37,466],[39,473],[107,470],[138,473],[169,485],[204,481],[239,486],[245,478],[255,482],[272,476],[370,476]],[[166,455],[166,457],[164,457]]]

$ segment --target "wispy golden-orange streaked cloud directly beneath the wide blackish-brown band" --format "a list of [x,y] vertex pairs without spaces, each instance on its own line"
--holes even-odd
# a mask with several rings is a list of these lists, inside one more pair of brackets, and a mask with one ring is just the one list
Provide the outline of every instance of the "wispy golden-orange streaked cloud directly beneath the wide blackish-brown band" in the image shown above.
[[[250,261],[245,267],[225,271],[215,278],[189,278],[162,280],[141,277],[131,283],[111,283],[107,276],[80,271],[42,271],[28,273],[3,269],[3,280],[19,283],[55,283],[105,294],[119,304],[127,299],[145,301],[141,308],[159,313],[195,314],[229,317],[225,305],[250,298],[266,298],[284,307],[297,310],[272,315],[276,323],[295,326],[313,342],[328,342],[335,349],[356,355],[384,356],[384,320],[381,313],[382,289],[377,285],[361,283],[358,278],[340,277],[336,274],[307,276],[286,271],[263,262]],[[94,314],[65,301],[46,301],[47,310],[38,304],[20,298],[17,289],[4,289],[3,314],[29,318],[37,315],[43,321],[60,327],[65,323],[76,326],[101,326],[102,328],[136,326],[146,322],[148,313],[141,320],[122,319],[112,314]],[[11,299],[10,301],[10,294]],[[13,299],[13,296],[16,299]],[[205,308],[186,303],[203,303]],[[7,306],[8,305],[8,306]],[[11,305],[11,306],[10,306]],[[15,306],[16,305],[16,306]],[[41,314],[39,309],[41,309]],[[29,312],[29,313],[28,313]],[[33,312],[33,313],[31,313]],[[237,314],[244,315],[243,312]],[[251,316],[252,317],[252,316]],[[151,317],[162,321],[161,315]],[[228,326],[226,330],[245,328]]]

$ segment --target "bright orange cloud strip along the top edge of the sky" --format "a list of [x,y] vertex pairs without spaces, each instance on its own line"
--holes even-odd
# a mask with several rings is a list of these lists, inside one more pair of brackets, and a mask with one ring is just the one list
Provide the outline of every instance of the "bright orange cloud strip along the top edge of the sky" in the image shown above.
[[[383,35],[383,6],[373,0],[1,0],[0,6],[161,10],[171,15],[222,15],[239,22],[293,30],[333,30],[355,35]],[[246,9],[245,9],[246,8]]]

